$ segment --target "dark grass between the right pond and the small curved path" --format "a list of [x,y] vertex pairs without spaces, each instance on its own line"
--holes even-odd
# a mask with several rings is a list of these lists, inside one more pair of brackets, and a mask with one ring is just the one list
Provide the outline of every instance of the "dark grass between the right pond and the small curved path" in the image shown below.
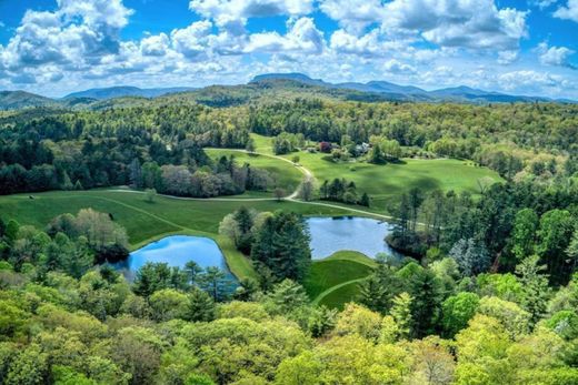
[[[340,251],[327,259],[313,261],[303,285],[311,300],[325,301],[332,287],[367,277],[373,266],[375,262],[361,253]],[[343,301],[350,298],[345,297]]]

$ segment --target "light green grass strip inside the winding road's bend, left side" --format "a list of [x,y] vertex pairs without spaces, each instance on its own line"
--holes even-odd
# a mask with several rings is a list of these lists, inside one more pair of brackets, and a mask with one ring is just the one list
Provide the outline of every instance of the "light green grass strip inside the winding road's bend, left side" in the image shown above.
[[[212,159],[219,159],[222,155],[233,155],[237,160],[237,164],[239,165],[249,163],[253,168],[269,171],[271,176],[273,176],[275,179],[275,184],[285,189],[288,193],[293,191],[299,185],[299,183],[301,182],[301,178],[303,176],[298,169],[291,166],[291,164],[283,162],[279,159],[262,156],[258,154],[248,154],[239,151],[231,151],[225,149],[206,149],[206,151],[207,154]],[[247,194],[255,195],[256,193],[248,192],[241,196],[245,196]],[[268,194],[268,197],[270,196],[271,194]]]

